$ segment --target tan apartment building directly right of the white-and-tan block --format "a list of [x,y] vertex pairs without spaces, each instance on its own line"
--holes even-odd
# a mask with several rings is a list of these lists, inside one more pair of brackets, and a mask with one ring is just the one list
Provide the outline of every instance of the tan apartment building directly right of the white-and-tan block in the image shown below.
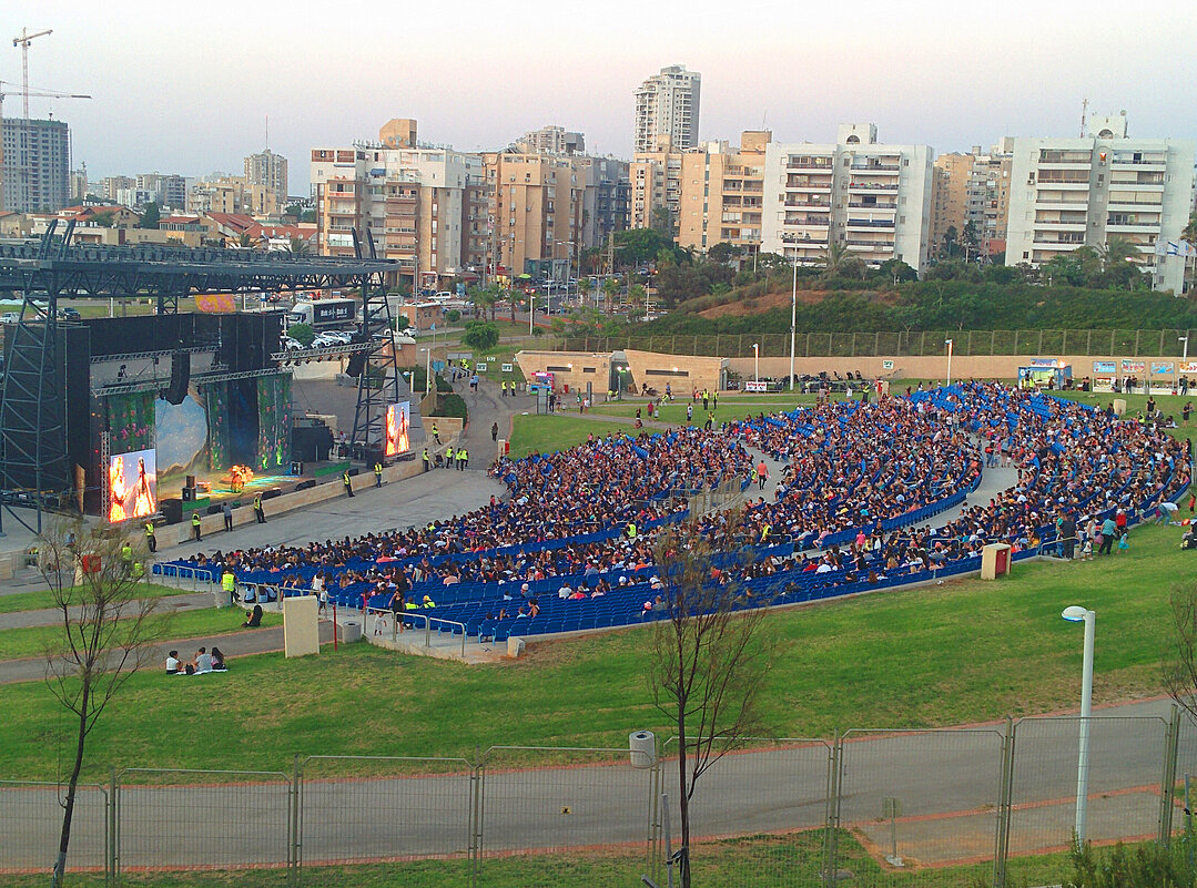
[[594,242],[590,158],[504,151],[484,153],[482,160],[496,273],[553,280],[576,274],[578,256]]

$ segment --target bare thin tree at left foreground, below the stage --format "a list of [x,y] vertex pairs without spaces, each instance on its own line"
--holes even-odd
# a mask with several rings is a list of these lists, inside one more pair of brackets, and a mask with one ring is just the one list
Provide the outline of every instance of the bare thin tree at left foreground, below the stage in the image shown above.
[[45,649],[45,682],[75,720],[74,760],[62,799],[62,832],[53,884],[63,883],[75,792],[87,735],[108,704],[153,656],[165,621],[142,597],[144,546],[107,525],[56,523],[40,542],[41,573],[59,612],[61,633]]

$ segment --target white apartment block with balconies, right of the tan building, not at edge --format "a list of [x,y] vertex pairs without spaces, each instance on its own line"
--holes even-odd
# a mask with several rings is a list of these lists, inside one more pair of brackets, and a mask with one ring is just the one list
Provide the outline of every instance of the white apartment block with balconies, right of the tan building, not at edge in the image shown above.
[[934,152],[883,145],[874,123],[844,123],[833,145],[765,150],[761,250],[819,263],[830,243],[871,267],[926,264]]

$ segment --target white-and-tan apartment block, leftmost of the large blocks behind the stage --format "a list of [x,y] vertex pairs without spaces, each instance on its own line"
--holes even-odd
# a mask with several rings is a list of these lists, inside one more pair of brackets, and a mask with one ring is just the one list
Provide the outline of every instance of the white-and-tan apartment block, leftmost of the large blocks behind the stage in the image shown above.
[[352,256],[357,230],[363,242],[369,233],[378,255],[395,260],[400,275],[418,287],[481,276],[488,241],[476,154],[381,141],[314,148],[311,181],[321,254]]

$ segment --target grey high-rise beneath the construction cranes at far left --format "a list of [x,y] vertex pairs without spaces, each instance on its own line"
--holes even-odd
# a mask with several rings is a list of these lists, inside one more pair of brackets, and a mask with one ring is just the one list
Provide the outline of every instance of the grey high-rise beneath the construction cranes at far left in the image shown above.
[[5,117],[0,209],[51,212],[71,202],[71,129],[60,120]]

